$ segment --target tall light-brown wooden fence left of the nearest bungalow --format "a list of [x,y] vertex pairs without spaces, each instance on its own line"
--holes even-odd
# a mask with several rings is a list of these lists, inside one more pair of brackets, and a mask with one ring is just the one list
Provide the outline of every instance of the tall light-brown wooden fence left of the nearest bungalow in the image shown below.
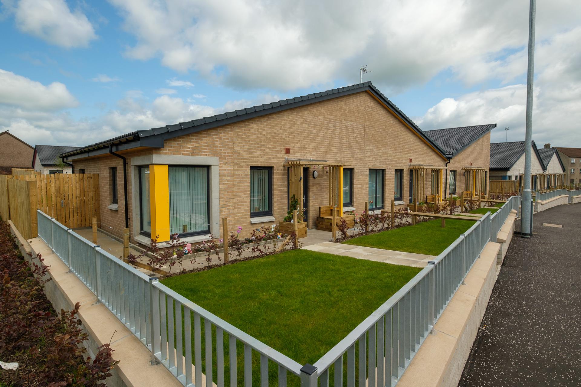
[[[35,212],[37,209],[71,229],[91,226],[93,216],[97,217],[97,222],[101,221],[99,175],[96,173],[0,175],[0,216],[3,220],[12,219],[16,225],[17,221],[23,222],[24,220],[15,220],[15,216],[29,219],[28,216],[21,214],[20,209],[16,210],[20,205],[19,193],[9,189],[9,185],[18,180],[33,183],[26,186],[30,191],[28,197],[34,197],[34,205],[30,209],[30,212],[34,212],[34,222],[36,222]],[[13,205],[17,206],[14,207],[15,210],[13,210]],[[36,236],[36,232],[34,232],[34,237]]]

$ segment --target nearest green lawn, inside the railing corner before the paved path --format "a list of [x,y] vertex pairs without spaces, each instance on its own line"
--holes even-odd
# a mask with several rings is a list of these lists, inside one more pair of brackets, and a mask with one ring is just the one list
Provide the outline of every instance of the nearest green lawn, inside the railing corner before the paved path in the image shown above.
[[[313,364],[420,270],[298,249],[162,283],[300,364]],[[228,359],[227,335],[224,346]],[[242,353],[239,342],[239,385]],[[260,385],[259,370],[253,356],[253,385]],[[270,385],[276,385],[277,366],[269,370]],[[298,378],[289,377],[289,385],[296,384]]]

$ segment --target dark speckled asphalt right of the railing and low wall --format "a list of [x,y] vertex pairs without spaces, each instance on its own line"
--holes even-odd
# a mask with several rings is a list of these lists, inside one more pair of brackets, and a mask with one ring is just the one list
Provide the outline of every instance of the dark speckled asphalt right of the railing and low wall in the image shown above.
[[535,214],[533,233],[512,238],[460,387],[581,385],[581,203]]

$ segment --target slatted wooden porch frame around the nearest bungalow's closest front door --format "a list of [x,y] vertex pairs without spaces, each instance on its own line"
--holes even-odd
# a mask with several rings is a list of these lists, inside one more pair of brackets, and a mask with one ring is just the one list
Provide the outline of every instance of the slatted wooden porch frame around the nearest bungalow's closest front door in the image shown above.
[[338,216],[343,216],[343,166],[327,160],[287,158],[283,167],[289,168],[289,198],[295,195],[299,200],[299,214],[303,214],[303,168],[320,165],[328,168],[329,205],[337,206]]

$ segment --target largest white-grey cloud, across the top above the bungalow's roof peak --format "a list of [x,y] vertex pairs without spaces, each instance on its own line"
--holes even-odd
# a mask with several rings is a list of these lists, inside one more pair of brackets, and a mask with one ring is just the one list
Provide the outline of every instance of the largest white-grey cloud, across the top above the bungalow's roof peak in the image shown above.
[[[240,89],[358,82],[368,64],[385,92],[443,70],[467,85],[526,70],[528,2],[490,0],[109,0],[137,38],[135,59]],[[537,40],[579,24],[581,2],[537,4]],[[364,23],[360,22],[364,20]]]

